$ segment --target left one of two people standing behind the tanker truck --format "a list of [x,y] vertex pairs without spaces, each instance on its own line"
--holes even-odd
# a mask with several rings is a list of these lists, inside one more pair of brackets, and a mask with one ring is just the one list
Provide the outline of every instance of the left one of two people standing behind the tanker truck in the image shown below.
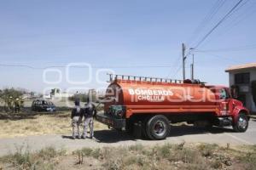
[[79,101],[75,101],[75,108],[73,108],[73,111],[71,113],[72,130],[73,130],[72,138],[73,139],[81,138],[79,126],[80,126],[80,123],[82,122],[82,112],[83,111],[80,108]]

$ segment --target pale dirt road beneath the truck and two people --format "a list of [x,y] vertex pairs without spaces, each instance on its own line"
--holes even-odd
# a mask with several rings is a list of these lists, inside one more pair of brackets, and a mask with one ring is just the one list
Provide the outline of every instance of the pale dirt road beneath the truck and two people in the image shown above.
[[76,150],[83,147],[103,147],[119,146],[131,144],[177,144],[185,141],[186,143],[216,143],[240,145],[256,144],[256,119],[252,118],[249,122],[246,133],[234,133],[230,128],[213,127],[211,131],[201,131],[195,127],[179,126],[172,127],[170,136],[166,140],[152,141],[134,139],[126,133],[119,133],[114,130],[96,131],[96,139],[70,139],[70,134],[66,135],[44,135],[29,136],[12,139],[0,139],[0,156],[15,152],[17,148],[28,147],[29,150],[40,150],[46,146]]

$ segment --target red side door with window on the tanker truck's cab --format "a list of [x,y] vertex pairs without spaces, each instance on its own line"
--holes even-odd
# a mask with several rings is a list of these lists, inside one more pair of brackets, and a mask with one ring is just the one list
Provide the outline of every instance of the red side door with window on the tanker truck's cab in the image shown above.
[[218,89],[219,95],[219,112],[220,116],[230,116],[233,110],[233,105],[231,103],[230,94],[228,89],[220,88]]

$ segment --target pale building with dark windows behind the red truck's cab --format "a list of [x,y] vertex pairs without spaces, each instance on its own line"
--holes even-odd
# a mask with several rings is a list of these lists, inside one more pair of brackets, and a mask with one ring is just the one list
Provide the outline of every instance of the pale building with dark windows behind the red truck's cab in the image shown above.
[[256,112],[256,63],[233,65],[229,72],[231,91],[250,111]]

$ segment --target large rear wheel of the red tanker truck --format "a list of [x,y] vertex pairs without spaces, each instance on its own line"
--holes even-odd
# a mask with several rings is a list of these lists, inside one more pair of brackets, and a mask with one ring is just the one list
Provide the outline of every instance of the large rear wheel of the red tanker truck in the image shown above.
[[170,123],[166,116],[157,115],[151,117],[146,125],[146,133],[149,139],[166,139],[170,132]]

